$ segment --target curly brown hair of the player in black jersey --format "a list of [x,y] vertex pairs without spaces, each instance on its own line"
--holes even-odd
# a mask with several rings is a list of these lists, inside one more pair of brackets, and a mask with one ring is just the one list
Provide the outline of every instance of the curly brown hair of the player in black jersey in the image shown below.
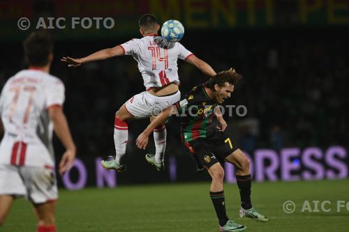
[[214,77],[211,77],[209,79],[209,82],[207,82],[207,86],[214,90],[214,86],[218,84],[219,87],[224,86],[225,82],[228,82],[229,84],[235,85],[242,79],[242,75],[237,73],[235,69],[230,68],[229,70],[223,70],[221,72],[218,72]]

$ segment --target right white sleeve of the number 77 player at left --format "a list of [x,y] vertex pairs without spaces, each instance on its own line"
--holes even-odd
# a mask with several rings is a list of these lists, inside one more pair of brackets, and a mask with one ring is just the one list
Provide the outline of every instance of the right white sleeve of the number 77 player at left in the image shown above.
[[54,79],[46,87],[46,109],[55,105],[62,106],[65,100],[64,84],[59,79]]

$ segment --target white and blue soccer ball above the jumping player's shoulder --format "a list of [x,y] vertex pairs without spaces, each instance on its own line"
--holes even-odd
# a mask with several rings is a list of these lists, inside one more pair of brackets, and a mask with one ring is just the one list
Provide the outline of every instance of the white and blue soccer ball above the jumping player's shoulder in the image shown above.
[[161,36],[168,42],[178,42],[184,36],[184,26],[177,20],[168,20],[161,27]]

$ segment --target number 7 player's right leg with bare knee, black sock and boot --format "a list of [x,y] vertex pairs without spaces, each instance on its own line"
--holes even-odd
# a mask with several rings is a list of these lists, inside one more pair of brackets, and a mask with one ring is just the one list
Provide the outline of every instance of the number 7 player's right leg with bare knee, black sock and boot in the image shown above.
[[232,154],[225,157],[225,160],[235,165],[235,176],[241,199],[240,217],[251,217],[259,222],[267,222],[267,217],[257,212],[251,203],[252,180],[250,161],[248,160],[248,157],[242,152],[242,150],[237,149]]

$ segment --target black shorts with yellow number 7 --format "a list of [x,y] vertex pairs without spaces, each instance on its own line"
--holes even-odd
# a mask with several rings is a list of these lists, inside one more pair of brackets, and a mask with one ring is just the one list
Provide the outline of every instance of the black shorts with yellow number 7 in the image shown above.
[[206,138],[185,142],[184,146],[194,160],[207,169],[217,162],[223,164],[225,157],[237,150],[232,137],[220,130],[210,131]]

